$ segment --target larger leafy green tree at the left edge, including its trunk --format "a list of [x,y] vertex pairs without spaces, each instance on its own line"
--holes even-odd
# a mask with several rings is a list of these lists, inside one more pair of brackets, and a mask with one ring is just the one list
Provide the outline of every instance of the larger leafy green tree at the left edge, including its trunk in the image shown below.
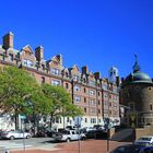
[[[0,68],[0,109],[15,116],[15,129],[19,129],[19,114],[32,114],[27,102],[36,102],[40,89],[34,76],[15,67]],[[35,105],[35,104],[34,104]]]

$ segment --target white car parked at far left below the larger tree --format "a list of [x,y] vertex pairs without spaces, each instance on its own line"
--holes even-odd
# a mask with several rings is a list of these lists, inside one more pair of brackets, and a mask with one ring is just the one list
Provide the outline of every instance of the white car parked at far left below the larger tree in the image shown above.
[[20,139],[20,138],[30,139],[31,137],[32,136],[31,136],[30,132],[23,132],[23,131],[20,131],[20,130],[16,130],[16,131],[3,131],[1,133],[2,139],[10,139],[10,140]]

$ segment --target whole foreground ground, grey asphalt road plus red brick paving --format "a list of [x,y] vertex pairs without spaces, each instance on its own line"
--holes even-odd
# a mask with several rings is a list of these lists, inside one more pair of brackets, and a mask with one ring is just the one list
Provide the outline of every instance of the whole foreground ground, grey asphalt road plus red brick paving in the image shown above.
[[[113,150],[116,146],[127,142],[109,142],[109,149]],[[81,141],[80,149],[79,142],[73,141],[70,143],[61,142],[55,143],[51,138],[31,138],[19,140],[0,140],[0,153],[106,153],[107,142],[106,140],[93,140],[89,139]]]

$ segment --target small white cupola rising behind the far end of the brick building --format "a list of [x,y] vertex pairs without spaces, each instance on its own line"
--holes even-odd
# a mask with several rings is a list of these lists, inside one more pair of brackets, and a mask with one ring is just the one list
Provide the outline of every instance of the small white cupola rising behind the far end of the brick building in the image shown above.
[[116,83],[117,76],[118,76],[118,69],[113,66],[108,72],[109,82]]

